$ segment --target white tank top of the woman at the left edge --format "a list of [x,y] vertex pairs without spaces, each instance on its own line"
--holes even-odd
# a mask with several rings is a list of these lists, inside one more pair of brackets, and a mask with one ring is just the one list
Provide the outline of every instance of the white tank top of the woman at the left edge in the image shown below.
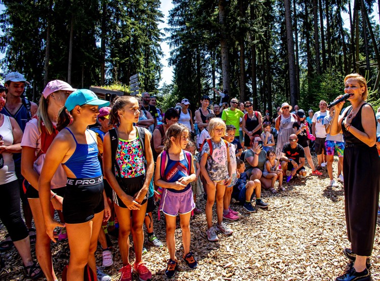
[[[13,130],[9,116],[4,115],[3,125],[0,127],[0,135],[3,136],[4,145],[13,144]],[[0,169],[0,184],[6,184],[17,180],[13,153],[3,152],[4,167]]]

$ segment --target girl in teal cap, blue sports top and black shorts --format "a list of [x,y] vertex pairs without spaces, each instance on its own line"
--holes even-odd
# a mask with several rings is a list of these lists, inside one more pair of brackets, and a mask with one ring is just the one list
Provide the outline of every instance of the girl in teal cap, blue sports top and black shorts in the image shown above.
[[[98,235],[102,220],[109,218],[109,207],[103,197],[96,135],[87,129],[95,124],[99,107],[108,104],[108,101],[99,100],[95,93],[87,89],[76,90],[68,96],[65,106],[59,111],[59,133],[46,152],[39,178],[41,208],[50,239],[56,242],[53,234],[55,227],[66,226],[70,247],[66,278],[70,281],[83,280],[87,265],[92,273],[96,272]],[[65,224],[54,220],[51,213],[51,204],[57,196],[52,192],[51,185],[59,167],[63,167],[67,176],[62,203]],[[31,184],[36,182],[31,181]]]

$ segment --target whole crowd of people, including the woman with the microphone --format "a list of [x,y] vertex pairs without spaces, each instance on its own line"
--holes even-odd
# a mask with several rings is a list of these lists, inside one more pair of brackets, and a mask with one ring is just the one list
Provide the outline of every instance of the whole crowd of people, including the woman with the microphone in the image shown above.
[[[117,97],[110,104],[90,90],[75,90],[59,80],[47,84],[37,105],[23,97],[26,84],[21,73],[11,72],[5,87],[0,87],[0,219],[9,233],[0,251],[15,246],[27,277],[55,281],[59,270],[64,280],[84,280],[86,274],[110,280],[105,273],[113,264],[109,233],[117,233],[123,262],[120,280],[132,280],[132,273],[139,280],[151,279],[143,262],[144,243],[164,246],[154,233],[157,207],[158,219],[162,212],[166,223],[165,275],[173,277],[178,269],[174,235],[178,218],[182,261],[195,269],[192,215],[205,212],[205,236],[215,242],[219,233],[233,233],[234,224],[226,221],[241,217],[231,208],[232,198],[247,213],[268,208],[261,189],[285,192],[289,181],[308,177],[306,164],[310,176],[320,177],[326,167],[331,187],[339,186],[339,181],[344,184],[352,243],[344,254],[352,265],[336,280],[364,280],[370,275],[380,186],[376,151],[380,110],[374,115],[365,102],[368,91],[362,76],[345,78],[351,106],[342,110],[340,102],[328,108],[321,100],[320,110],[308,110],[308,117],[298,105],[292,111],[286,102],[271,117],[268,110],[255,111],[251,101],[230,99],[227,91],[216,89],[219,104],[212,106],[210,97],[202,96],[200,107],[192,112],[184,98],[163,112],[157,97],[146,92],[141,98]],[[368,165],[371,169],[361,169]],[[197,201],[202,194],[205,206]],[[68,239],[65,268],[53,266],[50,242],[57,239]],[[101,266],[95,260],[98,242]],[[31,243],[38,263],[32,260]],[[0,266],[4,267],[1,257]]]

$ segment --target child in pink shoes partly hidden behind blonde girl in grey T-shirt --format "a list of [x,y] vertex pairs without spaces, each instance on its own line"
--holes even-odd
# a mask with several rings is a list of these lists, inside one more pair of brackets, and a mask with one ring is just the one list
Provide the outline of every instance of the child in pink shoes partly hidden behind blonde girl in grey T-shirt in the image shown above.
[[233,140],[235,139],[235,131],[236,128],[234,125],[227,125],[225,136],[223,137],[227,142],[229,142],[229,152],[230,152],[230,162],[232,168],[232,181],[229,186],[225,187],[225,192],[223,196],[223,219],[236,221],[240,219],[239,213],[231,210],[231,195],[233,187],[240,176],[238,171],[236,170],[236,154],[235,154],[235,145],[233,144]]

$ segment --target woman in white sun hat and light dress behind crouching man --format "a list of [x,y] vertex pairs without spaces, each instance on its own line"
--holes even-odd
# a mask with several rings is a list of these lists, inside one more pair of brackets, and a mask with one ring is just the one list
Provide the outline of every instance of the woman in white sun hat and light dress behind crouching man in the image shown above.
[[281,158],[282,147],[285,143],[289,142],[289,137],[294,134],[293,124],[297,121],[297,116],[290,113],[292,106],[287,102],[281,105],[282,114],[276,119],[276,130],[277,135],[277,146],[276,146],[276,157]]

